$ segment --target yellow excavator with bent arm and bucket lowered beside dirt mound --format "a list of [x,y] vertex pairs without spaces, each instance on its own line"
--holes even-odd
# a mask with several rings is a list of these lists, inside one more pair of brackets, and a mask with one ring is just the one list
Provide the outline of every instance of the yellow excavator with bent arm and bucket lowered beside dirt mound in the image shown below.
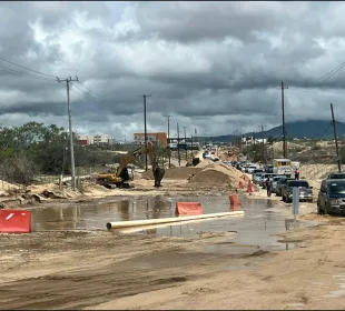
[[165,169],[159,168],[158,162],[156,161],[155,154],[155,146],[152,142],[148,142],[146,146],[136,149],[135,151],[130,151],[125,154],[120,160],[120,165],[117,169],[116,173],[100,173],[97,175],[97,182],[107,188],[111,188],[115,184],[117,188],[129,188],[129,173],[127,165],[134,162],[139,156],[148,154],[151,165],[152,173],[155,178],[155,185],[160,187],[160,181],[165,174]]

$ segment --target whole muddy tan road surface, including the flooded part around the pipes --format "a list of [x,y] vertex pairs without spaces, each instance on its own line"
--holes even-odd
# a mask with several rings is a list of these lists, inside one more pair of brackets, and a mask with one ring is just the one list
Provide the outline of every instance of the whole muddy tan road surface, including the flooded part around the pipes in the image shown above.
[[[285,205],[244,200],[244,218],[102,229],[109,217],[170,217],[177,199],[160,213],[142,198],[125,210],[65,204],[62,219],[59,208],[32,211],[34,232],[0,235],[0,309],[343,309],[338,218],[305,215],[290,230]],[[228,211],[227,200],[199,198],[204,212]]]

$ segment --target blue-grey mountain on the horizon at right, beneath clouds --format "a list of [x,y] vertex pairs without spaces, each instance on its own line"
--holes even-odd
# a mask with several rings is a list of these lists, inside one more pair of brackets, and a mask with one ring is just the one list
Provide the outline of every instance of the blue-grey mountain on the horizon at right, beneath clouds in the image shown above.
[[[296,121],[289,122],[285,124],[286,127],[286,136],[288,138],[332,138],[333,137],[333,127],[331,126],[331,121],[325,120],[309,120],[309,121]],[[280,138],[283,133],[283,127],[275,127],[270,130],[264,131],[264,137],[273,137]],[[328,129],[328,130],[327,130]],[[337,136],[345,136],[345,123],[337,122]],[[244,133],[243,137],[253,137],[254,132]],[[262,132],[255,133],[256,138],[262,138]],[[213,142],[231,142],[234,136],[218,136],[210,137],[209,139]]]

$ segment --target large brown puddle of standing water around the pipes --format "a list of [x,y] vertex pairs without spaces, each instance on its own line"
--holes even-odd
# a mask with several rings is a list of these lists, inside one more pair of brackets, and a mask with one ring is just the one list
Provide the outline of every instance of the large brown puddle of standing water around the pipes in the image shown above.
[[[127,221],[175,217],[175,203],[177,201],[197,201],[203,204],[204,213],[228,212],[234,209],[229,204],[228,197],[197,197],[197,198],[139,198],[120,202],[100,201],[98,203],[76,203],[49,208],[32,209],[32,230],[68,230],[88,229],[106,230],[106,223],[110,221]],[[245,211],[240,218],[218,218],[203,221],[194,221],[185,224],[159,225],[141,230],[141,233],[167,237],[196,238],[203,232],[236,232],[228,243],[247,245],[264,245],[272,249],[288,249],[277,242],[276,233],[288,230],[286,218],[270,209],[277,203],[270,200],[241,199],[238,210]],[[313,222],[304,222],[302,225],[313,225]],[[138,232],[138,231],[136,231]],[[224,244],[214,244],[213,251],[221,252]],[[227,251],[228,252],[228,251]]]

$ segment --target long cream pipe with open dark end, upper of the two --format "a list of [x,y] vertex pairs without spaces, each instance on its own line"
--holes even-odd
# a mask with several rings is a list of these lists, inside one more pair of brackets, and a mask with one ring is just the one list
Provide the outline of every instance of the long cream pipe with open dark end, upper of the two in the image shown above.
[[244,213],[245,213],[244,211],[235,211],[235,212],[209,213],[209,214],[198,214],[198,215],[184,215],[184,217],[160,218],[160,219],[116,221],[116,222],[108,222],[107,229],[118,229],[118,228],[126,228],[126,227],[158,224],[158,223],[178,222],[178,221],[217,218],[217,217],[231,217],[231,215],[239,215],[239,214],[244,214]]

